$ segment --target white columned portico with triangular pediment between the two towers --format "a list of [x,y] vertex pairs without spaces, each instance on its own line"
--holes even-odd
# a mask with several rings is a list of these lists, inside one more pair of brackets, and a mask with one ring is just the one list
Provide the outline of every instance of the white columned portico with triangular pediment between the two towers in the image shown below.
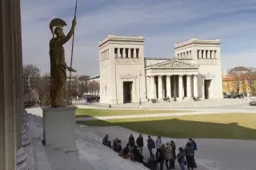
[[150,80],[147,81],[149,99],[198,97],[198,65],[174,58],[146,67],[146,79]]

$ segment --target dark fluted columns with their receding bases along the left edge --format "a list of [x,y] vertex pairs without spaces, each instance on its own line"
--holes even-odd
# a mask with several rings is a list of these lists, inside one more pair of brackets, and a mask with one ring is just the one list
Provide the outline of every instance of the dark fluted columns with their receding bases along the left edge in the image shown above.
[[24,147],[31,138],[22,97],[20,1],[2,0],[0,10],[0,166],[6,170],[28,170]]

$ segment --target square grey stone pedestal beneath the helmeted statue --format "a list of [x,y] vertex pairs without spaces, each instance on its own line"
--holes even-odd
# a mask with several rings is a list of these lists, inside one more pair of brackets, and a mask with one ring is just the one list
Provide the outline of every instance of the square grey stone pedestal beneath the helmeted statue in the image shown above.
[[65,152],[77,151],[75,137],[75,106],[42,108],[43,143]]

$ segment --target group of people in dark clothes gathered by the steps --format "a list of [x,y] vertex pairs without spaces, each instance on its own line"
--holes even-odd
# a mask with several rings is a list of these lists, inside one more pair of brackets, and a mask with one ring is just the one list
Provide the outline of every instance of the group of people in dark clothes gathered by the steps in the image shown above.
[[[164,163],[166,163],[166,168],[175,169],[175,162],[178,161],[178,164],[182,170],[185,170],[187,165],[188,170],[193,170],[197,168],[197,164],[194,160],[194,152],[198,150],[197,144],[193,139],[189,139],[185,148],[178,148],[178,154],[176,155],[176,144],[173,140],[162,144],[161,136],[158,136],[157,140],[153,140],[151,136],[148,136],[147,139],[147,148],[150,152],[150,158],[147,163],[143,162],[143,147],[144,140],[142,134],[139,134],[138,138],[134,139],[134,136],[131,134],[126,144],[126,147],[122,148],[121,140],[116,138],[111,145],[109,140],[109,135],[106,135],[103,138],[104,145],[113,148],[115,152],[118,152],[119,156],[122,156],[124,159],[130,159],[136,162],[144,164],[147,168],[151,170],[160,169],[163,170]],[[153,149],[156,148],[156,153],[154,155]]]

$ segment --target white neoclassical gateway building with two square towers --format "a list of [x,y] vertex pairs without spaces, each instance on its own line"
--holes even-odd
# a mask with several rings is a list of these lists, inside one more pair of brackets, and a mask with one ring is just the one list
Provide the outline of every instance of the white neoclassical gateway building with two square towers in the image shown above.
[[177,43],[172,58],[144,57],[144,41],[109,35],[99,42],[102,103],[222,98],[220,40]]

